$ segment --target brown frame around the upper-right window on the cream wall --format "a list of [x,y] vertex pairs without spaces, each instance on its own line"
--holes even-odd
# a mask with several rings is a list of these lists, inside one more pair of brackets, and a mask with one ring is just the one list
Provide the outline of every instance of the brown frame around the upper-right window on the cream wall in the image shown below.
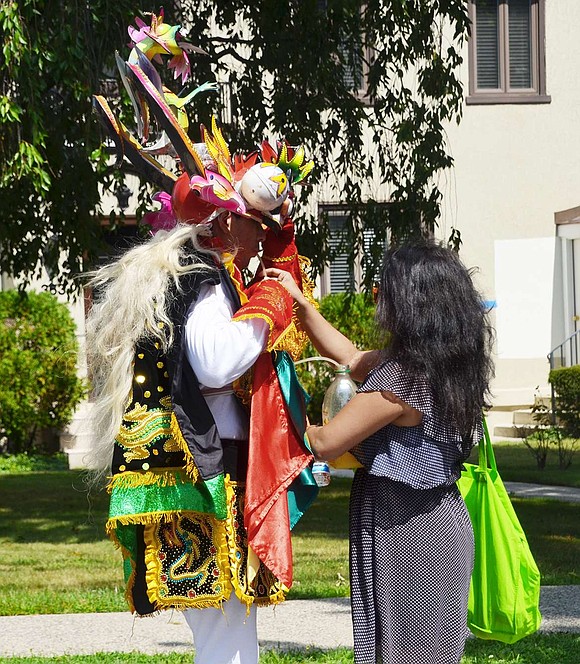
[[497,89],[477,87],[477,0],[469,0],[468,11],[471,22],[469,37],[469,94],[468,105],[476,104],[548,104],[552,101],[546,93],[546,2],[531,0],[531,74],[532,87],[509,88],[509,37],[507,25],[507,0],[499,0],[499,69],[500,87]]

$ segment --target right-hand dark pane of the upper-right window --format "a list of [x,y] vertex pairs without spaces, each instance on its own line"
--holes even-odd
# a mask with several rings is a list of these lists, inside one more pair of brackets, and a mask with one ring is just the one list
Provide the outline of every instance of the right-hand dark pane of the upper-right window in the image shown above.
[[530,0],[508,0],[510,88],[532,87],[532,20]]

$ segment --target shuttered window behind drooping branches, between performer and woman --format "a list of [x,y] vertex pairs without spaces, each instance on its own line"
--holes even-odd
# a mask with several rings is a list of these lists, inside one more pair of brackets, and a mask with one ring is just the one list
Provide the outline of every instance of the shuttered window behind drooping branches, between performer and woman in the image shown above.
[[[362,283],[361,256],[357,256],[354,265],[349,265],[348,254],[339,249],[344,242],[348,220],[348,210],[341,206],[323,206],[321,218],[328,220],[330,229],[329,244],[331,251],[339,250],[331,263],[324,269],[321,280],[321,294],[342,293],[344,291],[359,290]],[[374,232],[363,231],[364,251],[368,251],[370,243],[374,241]]]

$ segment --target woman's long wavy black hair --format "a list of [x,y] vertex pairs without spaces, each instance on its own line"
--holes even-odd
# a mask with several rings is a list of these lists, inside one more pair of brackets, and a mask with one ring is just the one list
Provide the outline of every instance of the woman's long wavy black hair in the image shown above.
[[471,275],[455,251],[433,240],[389,249],[376,313],[387,357],[427,381],[467,453],[494,373],[493,329]]

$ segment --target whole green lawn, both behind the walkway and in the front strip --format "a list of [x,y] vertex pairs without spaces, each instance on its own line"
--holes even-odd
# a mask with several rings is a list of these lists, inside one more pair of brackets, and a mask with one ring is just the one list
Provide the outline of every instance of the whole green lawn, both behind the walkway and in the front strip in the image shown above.
[[[512,447],[496,446],[500,472],[506,480],[523,479],[512,473],[526,464],[528,456],[532,462],[528,466],[533,465],[533,459],[525,448]],[[576,485],[577,471],[573,469],[572,473],[563,474],[566,482],[559,483]],[[525,479],[531,481],[529,477]],[[550,483],[556,482],[550,479]],[[297,525],[293,535],[295,582],[291,598],[348,595],[349,490],[349,479],[334,478]],[[543,583],[580,583],[578,505],[540,499],[514,499],[513,503],[542,572]],[[0,463],[0,615],[125,610],[120,554],[103,534],[106,511],[106,494],[89,495],[80,473],[3,473]],[[462,664],[490,661],[576,664],[580,661],[580,635],[536,634],[511,646],[470,639]],[[185,664],[191,662],[191,654],[101,653],[0,658],[0,662]],[[267,652],[262,654],[260,662],[352,664],[353,657],[348,649]]]

